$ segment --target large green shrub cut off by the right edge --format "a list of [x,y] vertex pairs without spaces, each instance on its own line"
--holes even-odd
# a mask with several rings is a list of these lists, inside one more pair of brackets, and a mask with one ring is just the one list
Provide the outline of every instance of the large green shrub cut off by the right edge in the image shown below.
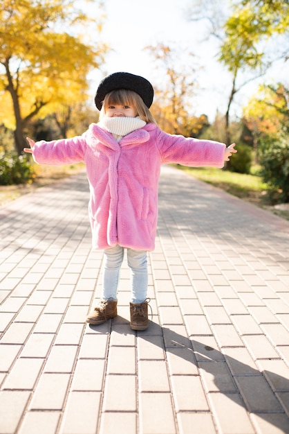
[[268,184],[272,202],[289,202],[289,141],[274,141],[260,157],[260,175]]

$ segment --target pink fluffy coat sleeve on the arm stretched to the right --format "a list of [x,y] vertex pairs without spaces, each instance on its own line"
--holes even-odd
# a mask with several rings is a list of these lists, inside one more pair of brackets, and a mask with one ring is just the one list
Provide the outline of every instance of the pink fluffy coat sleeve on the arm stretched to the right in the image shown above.
[[198,140],[192,137],[167,134],[158,130],[156,143],[163,163],[177,163],[183,166],[224,166],[225,144],[212,140]]

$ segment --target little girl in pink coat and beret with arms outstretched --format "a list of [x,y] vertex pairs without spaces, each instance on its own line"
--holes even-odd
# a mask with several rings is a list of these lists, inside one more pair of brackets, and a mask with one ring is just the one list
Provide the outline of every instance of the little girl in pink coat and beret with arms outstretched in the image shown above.
[[92,245],[104,250],[102,296],[86,319],[89,324],[117,315],[125,248],[131,269],[131,329],[148,327],[147,251],[153,250],[156,237],[161,164],[221,168],[237,152],[234,144],[226,148],[216,141],[163,132],[149,111],[152,101],[148,80],[113,73],[97,88],[98,123],[72,139],[35,143],[28,138],[30,148],[24,148],[38,164],[86,164]]

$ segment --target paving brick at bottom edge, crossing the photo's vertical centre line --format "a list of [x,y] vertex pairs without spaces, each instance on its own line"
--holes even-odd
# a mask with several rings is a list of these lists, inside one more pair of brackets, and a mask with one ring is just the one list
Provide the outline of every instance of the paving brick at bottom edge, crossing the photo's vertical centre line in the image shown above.
[[176,434],[170,393],[140,394],[140,434]]

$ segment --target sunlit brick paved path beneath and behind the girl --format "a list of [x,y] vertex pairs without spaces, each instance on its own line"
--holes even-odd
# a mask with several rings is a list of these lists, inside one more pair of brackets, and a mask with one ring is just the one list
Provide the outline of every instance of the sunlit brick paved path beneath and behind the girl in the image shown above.
[[162,170],[149,329],[100,295],[84,174],[0,209],[0,434],[289,433],[289,223]]

